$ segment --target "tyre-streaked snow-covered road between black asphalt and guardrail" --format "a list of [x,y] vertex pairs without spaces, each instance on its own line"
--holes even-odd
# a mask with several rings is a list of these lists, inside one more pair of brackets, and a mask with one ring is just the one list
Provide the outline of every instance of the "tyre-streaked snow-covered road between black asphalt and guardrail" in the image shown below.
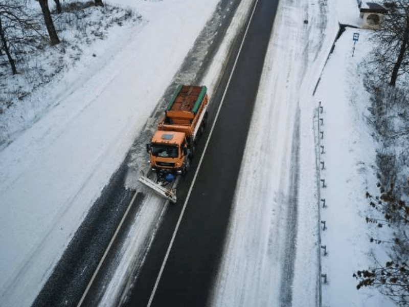
[[[333,36],[319,36],[331,36],[323,6],[280,2],[214,285],[215,306],[318,303],[313,89],[300,89],[308,69],[322,69],[320,60],[328,55],[322,44],[332,45]],[[319,75],[311,77],[316,82]]]

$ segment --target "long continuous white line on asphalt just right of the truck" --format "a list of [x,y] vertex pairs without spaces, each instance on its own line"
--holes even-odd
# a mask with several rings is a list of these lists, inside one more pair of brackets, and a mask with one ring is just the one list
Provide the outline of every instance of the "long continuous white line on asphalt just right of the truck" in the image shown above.
[[192,193],[193,186],[194,186],[194,184],[195,184],[195,181],[196,181],[196,178],[197,178],[197,174],[198,174],[199,169],[200,169],[200,165],[201,165],[201,163],[202,163],[202,161],[203,161],[203,157],[205,157],[206,149],[208,148],[208,145],[209,145],[209,142],[210,142],[210,138],[211,138],[212,133],[213,133],[214,126],[216,125],[216,121],[217,121],[217,118],[218,118],[218,116],[219,116],[221,106],[223,105],[223,102],[224,102],[224,97],[226,96],[226,92],[227,92],[227,90],[228,90],[228,88],[229,88],[229,84],[230,84],[230,81],[231,81],[231,79],[232,79],[233,72],[234,72],[234,70],[235,70],[235,68],[236,68],[236,64],[237,64],[237,61],[238,61],[238,59],[239,59],[239,56],[240,56],[240,53],[241,53],[241,49],[242,49],[242,47],[243,47],[244,40],[245,40],[245,38],[246,38],[246,36],[247,36],[248,28],[250,27],[250,24],[251,24],[251,22],[252,22],[253,15],[254,15],[254,12],[255,12],[255,10],[256,10],[257,4],[258,4],[258,0],[256,0],[256,2],[255,2],[252,15],[250,16],[250,19],[248,20],[248,24],[247,24],[247,27],[246,27],[246,31],[244,32],[244,36],[243,36],[243,39],[242,39],[241,44],[240,44],[239,52],[237,53],[236,60],[234,61],[234,65],[233,65],[232,72],[230,73],[229,80],[228,80],[228,82],[227,82],[227,84],[226,84],[226,88],[225,88],[224,93],[223,93],[223,97],[221,98],[220,105],[219,105],[219,107],[218,107],[218,109],[217,109],[217,113],[216,113],[215,119],[214,119],[214,121],[213,121],[212,128],[210,129],[209,137],[208,137],[208,139],[207,139],[207,141],[206,141],[205,148],[203,149],[202,155],[201,155],[201,157],[200,157],[199,164],[197,165],[197,169],[196,169],[195,175],[194,175],[194,177],[193,177],[192,184],[190,185],[188,195],[186,196],[186,200],[185,200],[185,203],[184,203],[184,205],[183,205],[183,208],[182,208],[182,210],[181,210],[181,212],[180,212],[179,219],[178,219],[178,221],[177,221],[175,230],[173,231],[173,235],[172,235],[172,238],[171,238],[171,240],[170,240],[168,250],[166,251],[165,258],[164,258],[164,260],[163,260],[163,262],[162,262],[161,270],[159,271],[159,274],[158,274],[157,277],[156,277],[155,286],[153,287],[153,290],[152,290],[152,293],[151,293],[151,295],[150,295],[150,298],[149,298],[149,302],[148,302],[147,307],[150,307],[150,305],[152,304],[153,297],[155,296],[155,292],[156,292],[156,290],[157,290],[157,286],[158,286],[158,284],[159,284],[159,281],[161,280],[163,271],[164,271],[164,269],[165,269],[166,262],[167,262],[167,260],[168,260],[169,254],[170,254],[170,250],[172,249],[172,245],[173,245],[173,242],[174,242],[174,240],[175,240],[177,230],[179,229],[180,222],[181,222],[181,220],[182,220],[183,214],[185,213],[186,205],[188,204],[188,201],[189,201],[189,198],[190,198],[190,194]]

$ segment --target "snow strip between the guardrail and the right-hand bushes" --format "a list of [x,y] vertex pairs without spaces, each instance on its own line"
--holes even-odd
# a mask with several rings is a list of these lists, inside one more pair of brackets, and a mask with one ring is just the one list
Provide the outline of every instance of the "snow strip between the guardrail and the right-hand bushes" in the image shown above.
[[[359,33],[354,56],[353,34]],[[370,226],[365,222],[369,205],[365,193],[377,194],[375,143],[368,127],[369,95],[363,89],[358,64],[370,51],[370,31],[347,28],[336,42],[315,94],[322,101],[320,114],[324,124],[324,146],[320,178],[326,187],[321,198],[326,200],[321,219],[326,221],[322,244],[328,255],[323,257],[323,305],[393,306],[374,289],[356,290],[352,274],[369,268],[374,259],[370,251],[381,248],[370,244]],[[339,63],[343,63],[340,65]],[[322,165],[320,165],[322,168]],[[322,225],[321,225],[322,226]],[[343,291],[339,291],[342,289]]]

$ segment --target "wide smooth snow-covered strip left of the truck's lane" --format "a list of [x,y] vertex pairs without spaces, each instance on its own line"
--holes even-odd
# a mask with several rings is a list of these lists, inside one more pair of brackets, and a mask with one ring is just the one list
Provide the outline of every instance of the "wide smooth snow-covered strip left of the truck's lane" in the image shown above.
[[142,23],[112,28],[85,52],[77,77],[38,90],[53,107],[0,152],[2,305],[32,303],[217,1],[109,3]]

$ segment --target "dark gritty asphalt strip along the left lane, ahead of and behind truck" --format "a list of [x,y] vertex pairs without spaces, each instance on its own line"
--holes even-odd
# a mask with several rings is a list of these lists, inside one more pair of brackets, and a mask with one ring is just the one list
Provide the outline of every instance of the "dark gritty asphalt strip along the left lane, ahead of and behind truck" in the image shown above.
[[[203,74],[206,73],[206,68],[211,62],[214,54],[217,52],[218,46],[229,27],[230,21],[234,16],[238,5],[239,2],[237,1],[220,1],[215,14],[195,41],[192,50],[186,56],[184,64],[176,73],[172,84],[166,89],[164,99],[157,105],[152,117],[155,117],[156,113],[162,114],[163,105],[167,104],[168,97],[173,95],[173,91],[177,84],[183,82],[187,78],[186,76],[194,76],[193,80],[191,80],[192,84],[200,81]],[[200,55],[199,53],[203,51],[205,47],[209,48],[209,52],[206,53],[206,55]],[[235,56],[236,53],[235,50],[232,50],[232,57]],[[197,71],[194,71],[199,67],[197,63],[200,61],[202,61],[203,64]],[[230,64],[230,66],[232,66],[232,64]],[[213,107],[213,111],[210,110],[210,113],[214,118],[215,107]],[[133,148],[145,148],[147,137],[150,136],[146,136],[142,133],[138,139],[135,140]],[[135,193],[135,191],[125,188],[130,160],[132,160],[131,152],[129,152],[118,171],[112,174],[112,177],[102,191],[101,196],[89,210],[84,222],[76,231],[69,246],[66,248],[64,254],[54,268],[50,278],[33,302],[32,307],[77,306]],[[197,164],[197,161],[195,162]],[[143,201],[143,193],[137,192],[137,196],[132,205],[131,211],[129,212],[129,216],[124,223],[124,227],[122,227],[118,234],[118,238],[113,243],[111,248],[112,252],[107,255],[92,288],[89,289],[89,293],[82,303],[82,306],[98,305],[99,299],[103,294],[103,289],[106,287],[106,284],[109,283],[110,277],[112,276],[113,271],[115,271],[117,260],[115,251],[120,249],[124,238],[127,236],[128,228],[131,227],[132,218],[138,212]],[[176,206],[173,209],[175,209],[173,212],[168,212],[168,216],[164,223],[164,226],[167,225],[168,228],[174,228],[178,212],[180,212],[180,206]],[[169,216],[172,214],[175,215],[175,218]],[[166,242],[166,237],[162,238]],[[115,299],[113,300],[115,301]]]

